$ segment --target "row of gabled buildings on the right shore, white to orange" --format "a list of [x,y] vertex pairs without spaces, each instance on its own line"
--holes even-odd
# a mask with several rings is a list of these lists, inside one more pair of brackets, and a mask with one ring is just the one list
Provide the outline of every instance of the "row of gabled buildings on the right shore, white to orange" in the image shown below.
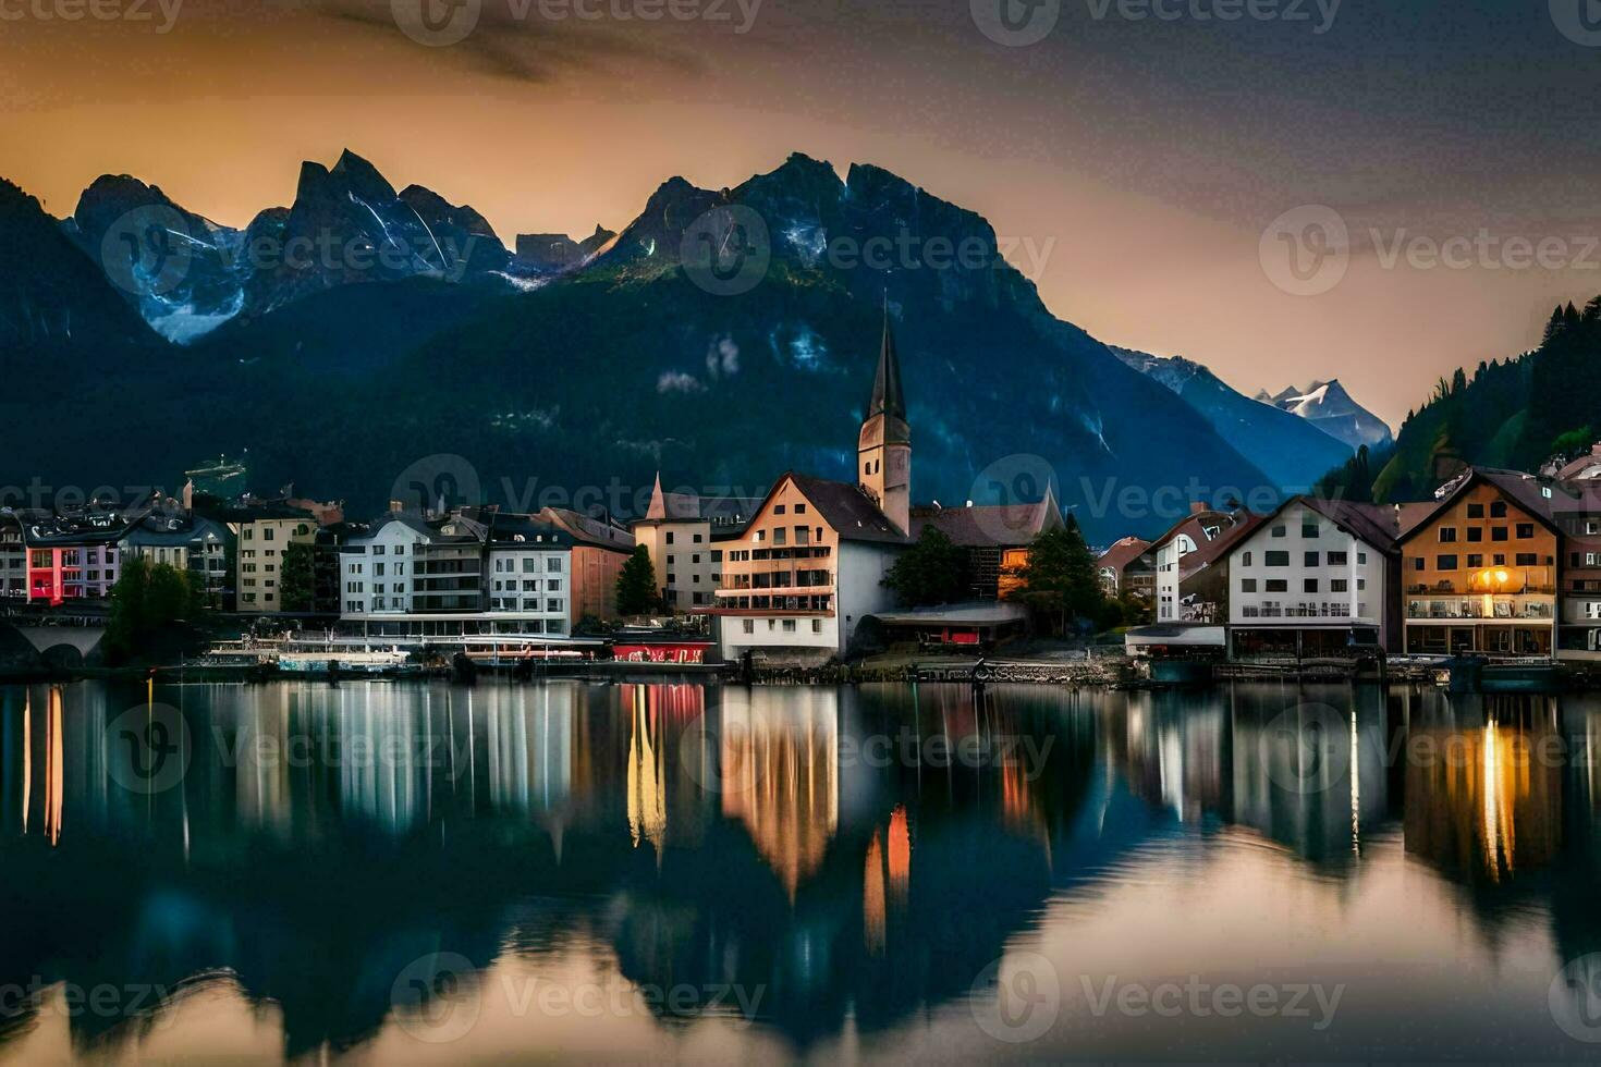
[[1297,496],[1270,515],[1194,509],[1100,557],[1146,598],[1140,653],[1382,648],[1601,657],[1601,446],[1539,475],[1470,469],[1409,504]]

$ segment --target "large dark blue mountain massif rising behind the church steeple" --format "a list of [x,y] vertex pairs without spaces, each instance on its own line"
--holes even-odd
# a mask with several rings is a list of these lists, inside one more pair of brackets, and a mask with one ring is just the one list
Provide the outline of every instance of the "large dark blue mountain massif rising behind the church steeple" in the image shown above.
[[[1191,493],[1282,485],[1183,397],[1055,318],[985,219],[869,165],[841,178],[796,155],[720,192],[674,178],[621,232],[556,264],[511,258],[477,213],[397,194],[360,157],[307,163],[293,206],[261,213],[245,238],[325,234],[394,254],[367,272],[247,258],[240,314],[186,346],[155,338],[64,229],[45,229],[96,285],[35,285],[34,317],[93,290],[96,314],[147,338],[128,342],[138,362],[93,382],[114,398],[114,454],[104,422],[54,403],[18,416],[46,477],[142,466],[171,482],[199,456],[248,448],[258,490],[293,480],[355,512],[381,509],[423,464],[450,469],[464,496],[621,517],[642,510],[658,469],[751,496],[786,469],[852,478],[887,307],[917,499],[1037,499],[1055,480],[1109,542],[1170,525]],[[937,242],[983,254],[937,262]],[[873,248],[897,250],[895,269],[861,254]],[[200,282],[191,293],[210,293]]]

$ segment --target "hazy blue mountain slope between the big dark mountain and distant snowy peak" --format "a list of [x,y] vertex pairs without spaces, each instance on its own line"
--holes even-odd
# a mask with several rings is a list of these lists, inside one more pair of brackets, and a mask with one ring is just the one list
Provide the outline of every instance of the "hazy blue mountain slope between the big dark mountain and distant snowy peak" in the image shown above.
[[1178,394],[1218,435],[1281,486],[1311,486],[1351,456],[1351,450],[1316,424],[1250,400],[1210,370],[1183,357],[1162,358],[1132,349],[1113,354]]

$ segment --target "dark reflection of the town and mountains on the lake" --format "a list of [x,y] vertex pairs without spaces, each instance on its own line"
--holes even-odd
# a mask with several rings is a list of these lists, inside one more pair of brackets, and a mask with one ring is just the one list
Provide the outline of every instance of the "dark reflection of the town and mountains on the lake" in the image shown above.
[[[439,950],[479,966],[583,952],[637,984],[781,990],[759,1021],[799,1049],[871,1033],[965,997],[1047,905],[1222,827],[1335,888],[1399,830],[1479,923],[1516,891],[1550,905],[1564,952],[1601,947],[1574,888],[1601,877],[1601,779],[1580,758],[1601,753],[1601,702],[1350,686],[165,696],[194,763],[134,797],[104,734],[142,691],[0,689],[0,982],[210,990],[275,1021],[290,1056],[371,1040],[394,976]],[[1406,755],[1420,744],[1460,755]],[[1551,745],[1567,758],[1542,758]],[[298,755],[240,755],[271,750]],[[74,1035],[133,1057],[139,1025]]]

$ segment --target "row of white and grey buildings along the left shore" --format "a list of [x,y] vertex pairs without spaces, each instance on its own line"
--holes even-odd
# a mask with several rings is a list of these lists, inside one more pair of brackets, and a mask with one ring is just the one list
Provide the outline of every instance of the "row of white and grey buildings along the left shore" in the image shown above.
[[[399,510],[371,523],[343,507],[243,496],[218,507],[167,501],[144,514],[0,510],[0,603],[104,601],[123,561],[186,571],[208,606],[317,617],[373,637],[572,633],[616,613],[628,530],[564,509],[508,515]],[[303,589],[288,593],[299,553]]]

